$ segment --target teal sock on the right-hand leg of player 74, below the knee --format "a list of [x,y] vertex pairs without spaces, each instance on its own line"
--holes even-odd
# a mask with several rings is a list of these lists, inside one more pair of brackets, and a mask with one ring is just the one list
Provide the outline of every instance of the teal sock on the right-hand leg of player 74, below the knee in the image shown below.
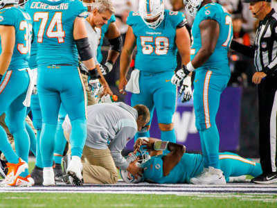
[[82,150],[87,139],[87,120],[77,119],[71,121],[71,156],[82,157]]

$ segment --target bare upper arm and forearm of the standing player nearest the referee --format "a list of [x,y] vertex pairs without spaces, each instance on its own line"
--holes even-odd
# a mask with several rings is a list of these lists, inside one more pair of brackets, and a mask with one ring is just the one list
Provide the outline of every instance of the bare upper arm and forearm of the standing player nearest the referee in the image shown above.
[[199,24],[199,28],[201,31],[202,47],[191,61],[195,69],[201,67],[213,54],[220,35],[220,25],[213,19],[202,21]]

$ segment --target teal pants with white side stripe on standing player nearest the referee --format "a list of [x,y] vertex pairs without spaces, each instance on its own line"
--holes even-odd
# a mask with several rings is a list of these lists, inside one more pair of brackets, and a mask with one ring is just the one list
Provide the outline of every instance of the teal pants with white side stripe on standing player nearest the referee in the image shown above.
[[193,92],[195,125],[200,135],[205,168],[208,166],[220,168],[218,159],[220,135],[215,116],[220,106],[220,96],[228,81],[229,76],[208,69],[199,68],[195,72]]

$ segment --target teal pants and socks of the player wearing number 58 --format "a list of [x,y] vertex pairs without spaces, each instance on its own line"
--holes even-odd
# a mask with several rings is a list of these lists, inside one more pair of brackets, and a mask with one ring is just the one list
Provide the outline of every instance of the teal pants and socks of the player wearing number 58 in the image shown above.
[[[132,94],[131,105],[143,104],[150,110],[150,125],[154,109],[157,112],[158,123],[172,123],[172,116],[176,109],[176,93],[175,85],[170,82],[173,71],[160,73],[149,73],[140,71],[139,76],[139,94]],[[149,137],[149,132],[138,133],[136,137]],[[174,130],[161,131],[161,140],[176,142]]]

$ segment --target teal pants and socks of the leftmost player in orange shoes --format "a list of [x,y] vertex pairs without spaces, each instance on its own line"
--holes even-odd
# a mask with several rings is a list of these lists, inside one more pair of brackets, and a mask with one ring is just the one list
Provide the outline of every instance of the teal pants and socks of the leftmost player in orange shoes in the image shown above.
[[4,73],[0,83],[0,114],[6,112],[6,124],[15,138],[17,154],[12,150],[6,132],[1,126],[0,150],[10,163],[18,163],[18,157],[28,162],[30,138],[25,126],[26,107],[23,101],[26,98],[29,80],[26,70],[12,70]]

